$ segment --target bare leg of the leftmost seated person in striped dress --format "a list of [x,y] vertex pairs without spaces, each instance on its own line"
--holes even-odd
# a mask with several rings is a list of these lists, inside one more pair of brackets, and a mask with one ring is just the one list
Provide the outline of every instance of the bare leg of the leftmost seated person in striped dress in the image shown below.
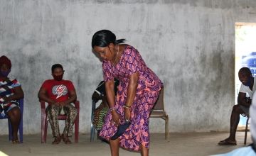
[[21,121],[21,111],[18,106],[16,106],[8,111],[7,115],[10,118],[11,127],[13,129],[13,140],[18,140],[18,126]]

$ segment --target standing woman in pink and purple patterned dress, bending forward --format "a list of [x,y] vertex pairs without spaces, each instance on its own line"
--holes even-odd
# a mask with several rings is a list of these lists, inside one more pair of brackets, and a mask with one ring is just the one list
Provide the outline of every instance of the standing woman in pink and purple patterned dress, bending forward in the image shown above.
[[[102,58],[102,69],[110,111],[100,136],[110,141],[112,156],[119,155],[119,146],[140,150],[149,155],[149,113],[158,99],[162,83],[146,67],[142,56],[124,39],[116,40],[110,30],[100,30],[92,37],[92,48]],[[119,79],[117,96],[114,96],[114,78]],[[110,138],[117,127],[130,121],[130,126],[116,140]]]

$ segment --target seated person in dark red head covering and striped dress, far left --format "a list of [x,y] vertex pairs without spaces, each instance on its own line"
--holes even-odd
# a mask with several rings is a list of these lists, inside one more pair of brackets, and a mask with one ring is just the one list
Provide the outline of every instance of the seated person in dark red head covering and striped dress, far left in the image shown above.
[[18,126],[21,121],[21,111],[18,99],[23,98],[23,90],[21,84],[14,79],[9,78],[11,72],[11,60],[6,56],[0,57],[0,116],[9,116],[13,129],[12,143],[17,144]]

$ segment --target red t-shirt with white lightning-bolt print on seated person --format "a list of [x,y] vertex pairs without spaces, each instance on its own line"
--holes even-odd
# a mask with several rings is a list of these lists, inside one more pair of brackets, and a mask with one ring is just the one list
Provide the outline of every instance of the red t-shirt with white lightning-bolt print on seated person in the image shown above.
[[47,96],[57,102],[68,100],[69,92],[75,90],[72,82],[68,80],[56,81],[48,79],[42,84],[42,88],[46,89]]

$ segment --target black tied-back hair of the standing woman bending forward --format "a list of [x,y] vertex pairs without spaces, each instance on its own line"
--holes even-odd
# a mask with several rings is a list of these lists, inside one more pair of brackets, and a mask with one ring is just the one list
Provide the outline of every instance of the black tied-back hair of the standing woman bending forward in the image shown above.
[[100,30],[92,36],[92,48],[94,48],[94,46],[107,47],[110,43],[118,45],[119,43],[124,43],[124,40],[125,39],[116,40],[116,36],[110,30]]

